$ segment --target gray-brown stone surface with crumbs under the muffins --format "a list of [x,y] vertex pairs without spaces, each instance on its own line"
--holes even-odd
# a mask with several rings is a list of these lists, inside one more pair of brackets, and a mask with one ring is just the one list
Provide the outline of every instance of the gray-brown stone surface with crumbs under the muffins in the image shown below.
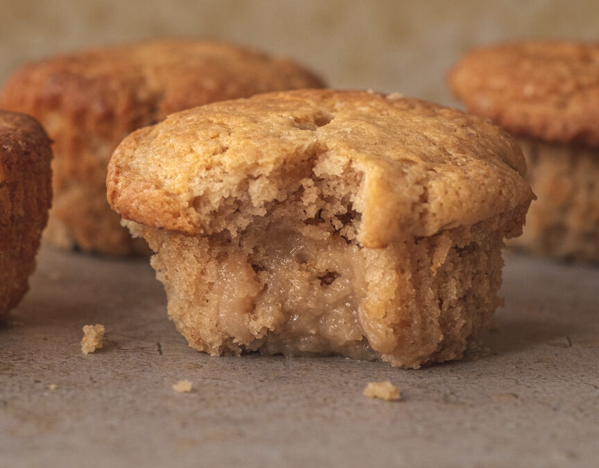
[[[166,320],[147,261],[42,250],[0,327],[0,466],[596,467],[599,268],[506,263],[505,308],[467,358],[399,370],[210,358]],[[94,323],[105,347],[84,356]],[[403,401],[362,396],[385,379]]]

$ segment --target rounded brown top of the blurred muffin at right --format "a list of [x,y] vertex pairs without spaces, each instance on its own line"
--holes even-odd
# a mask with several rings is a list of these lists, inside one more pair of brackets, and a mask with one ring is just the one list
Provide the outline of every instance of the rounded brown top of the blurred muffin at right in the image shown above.
[[514,135],[599,146],[599,44],[475,49],[448,75],[456,98]]

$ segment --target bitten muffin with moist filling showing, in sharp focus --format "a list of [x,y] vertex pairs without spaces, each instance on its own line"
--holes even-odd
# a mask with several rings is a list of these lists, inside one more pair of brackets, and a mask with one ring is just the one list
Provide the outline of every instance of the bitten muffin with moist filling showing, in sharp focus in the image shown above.
[[372,92],[213,103],[132,133],[107,196],[212,355],[460,358],[532,198],[486,119]]

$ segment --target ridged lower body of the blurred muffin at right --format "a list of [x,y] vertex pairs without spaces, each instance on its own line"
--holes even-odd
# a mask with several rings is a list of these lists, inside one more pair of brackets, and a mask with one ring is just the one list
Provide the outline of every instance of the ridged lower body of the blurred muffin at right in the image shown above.
[[599,262],[599,150],[520,139],[539,196],[511,245],[539,255]]

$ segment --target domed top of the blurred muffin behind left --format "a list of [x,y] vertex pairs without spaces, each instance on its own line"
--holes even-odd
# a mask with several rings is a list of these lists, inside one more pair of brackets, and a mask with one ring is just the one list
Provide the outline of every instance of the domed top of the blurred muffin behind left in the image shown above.
[[0,106],[36,116],[60,110],[73,127],[110,135],[213,101],[322,86],[290,60],[229,44],[162,40],[28,64],[8,79]]

